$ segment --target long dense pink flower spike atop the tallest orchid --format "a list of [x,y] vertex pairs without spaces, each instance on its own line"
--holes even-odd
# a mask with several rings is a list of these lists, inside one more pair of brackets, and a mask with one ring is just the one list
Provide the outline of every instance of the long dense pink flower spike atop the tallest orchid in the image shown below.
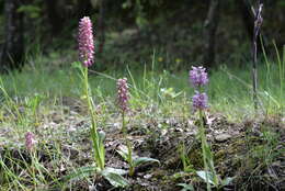
[[78,32],[79,59],[89,67],[94,61],[94,42],[92,33],[92,23],[89,16],[84,16],[79,22]]

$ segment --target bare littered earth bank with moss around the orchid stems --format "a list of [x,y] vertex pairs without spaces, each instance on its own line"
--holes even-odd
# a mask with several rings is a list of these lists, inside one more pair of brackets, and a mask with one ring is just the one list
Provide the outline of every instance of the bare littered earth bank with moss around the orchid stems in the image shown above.
[[[82,115],[84,110],[75,105],[73,102],[72,106],[64,106],[61,112],[55,110],[43,114],[34,128],[39,162],[50,171],[50,175],[45,175],[50,184],[43,186],[43,190],[60,190],[53,181],[55,178],[60,181],[72,169],[93,164],[89,120]],[[174,191],[183,189],[179,183],[205,190],[205,182],[195,173],[195,170],[203,169],[195,116],[138,119],[136,112],[130,112],[127,121],[128,138],[135,155],[156,158],[160,165],[148,164],[136,168],[135,176],[125,177],[130,187],[121,190]],[[207,113],[204,121],[216,171],[223,179],[233,178],[224,190],[285,190],[284,117],[228,122],[221,114]],[[127,170],[128,165],[116,153],[125,143],[119,116],[102,114],[100,123],[104,126],[100,130],[106,134],[106,166]],[[23,136],[13,136],[14,131],[9,127],[0,130],[1,137],[5,137],[0,143],[1,159],[8,167],[14,168],[18,176],[23,176],[25,168],[21,167],[21,161],[31,162]],[[187,171],[183,171],[180,157],[182,143],[191,162]],[[3,168],[1,164],[0,168]],[[1,183],[4,184],[4,180],[0,180]],[[68,187],[71,190],[114,190],[99,176],[73,180]]]

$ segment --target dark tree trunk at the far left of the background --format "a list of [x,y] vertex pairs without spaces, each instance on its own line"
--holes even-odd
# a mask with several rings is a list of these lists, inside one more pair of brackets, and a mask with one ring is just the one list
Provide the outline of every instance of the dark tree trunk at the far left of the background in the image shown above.
[[18,12],[21,0],[4,2],[4,43],[0,52],[0,70],[21,68],[24,58],[23,13]]

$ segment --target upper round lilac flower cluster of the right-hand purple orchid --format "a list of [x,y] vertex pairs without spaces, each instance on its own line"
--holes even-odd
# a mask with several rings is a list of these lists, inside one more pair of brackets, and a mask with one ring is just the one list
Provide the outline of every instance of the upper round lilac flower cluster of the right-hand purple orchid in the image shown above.
[[206,72],[206,68],[200,66],[192,66],[192,70],[189,72],[190,81],[194,87],[200,87],[206,85],[208,82],[208,75]]

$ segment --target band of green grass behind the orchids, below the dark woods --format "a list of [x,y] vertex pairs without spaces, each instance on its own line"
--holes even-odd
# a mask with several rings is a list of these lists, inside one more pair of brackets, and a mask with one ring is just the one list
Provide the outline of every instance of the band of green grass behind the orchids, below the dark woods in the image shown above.
[[[71,61],[60,63],[59,55],[38,55],[27,61],[19,72],[2,76],[3,87],[11,98],[29,98],[34,94],[44,98],[80,98],[82,85],[77,68]],[[33,63],[33,64],[31,64]],[[276,64],[276,63],[280,63]],[[285,105],[283,85],[284,64],[269,61],[259,66],[259,98],[261,111],[265,114],[282,113]],[[54,64],[54,65],[53,65]],[[243,119],[253,115],[251,65],[235,67],[225,65],[210,74],[208,96],[210,110],[221,112],[229,119]],[[283,68],[283,69],[282,69]],[[190,69],[190,68],[189,68]],[[96,72],[91,70],[90,85],[96,100],[115,99],[116,78],[127,77],[132,86],[134,104],[149,103],[169,106],[175,103],[189,106],[193,89],[189,83],[189,70],[169,72],[161,69],[157,58],[150,65],[129,63],[125,68],[112,68]],[[171,110],[171,109],[170,109]]]

